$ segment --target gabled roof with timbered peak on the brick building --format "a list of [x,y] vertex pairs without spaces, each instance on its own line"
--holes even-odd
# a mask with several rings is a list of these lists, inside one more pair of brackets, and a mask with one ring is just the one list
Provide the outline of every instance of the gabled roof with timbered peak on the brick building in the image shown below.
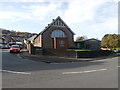
[[[53,19],[53,22],[48,24],[47,27],[43,31],[41,31],[35,38],[37,38],[40,34],[43,34],[47,29],[49,29],[51,26],[61,26],[66,27],[72,34],[75,35],[75,33],[68,27],[68,25],[58,16],[56,19]],[[34,38],[34,39],[35,39]]]

